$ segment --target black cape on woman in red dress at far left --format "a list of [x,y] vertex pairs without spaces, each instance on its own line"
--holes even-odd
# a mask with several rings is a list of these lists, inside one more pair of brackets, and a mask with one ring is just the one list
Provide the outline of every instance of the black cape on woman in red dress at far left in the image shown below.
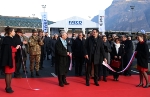
[[2,53],[1,53],[1,59],[0,59],[0,67],[3,66],[9,66],[13,67],[12,62],[12,50],[11,46],[16,47],[16,41],[14,38],[6,36],[2,43]]

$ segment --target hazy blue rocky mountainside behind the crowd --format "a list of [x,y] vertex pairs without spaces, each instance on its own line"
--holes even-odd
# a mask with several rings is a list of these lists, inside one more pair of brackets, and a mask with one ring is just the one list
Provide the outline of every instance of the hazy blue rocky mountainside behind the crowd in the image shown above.
[[[130,6],[135,6],[132,10]],[[114,0],[105,10],[106,30],[150,31],[150,0]],[[98,15],[92,21],[98,22]]]

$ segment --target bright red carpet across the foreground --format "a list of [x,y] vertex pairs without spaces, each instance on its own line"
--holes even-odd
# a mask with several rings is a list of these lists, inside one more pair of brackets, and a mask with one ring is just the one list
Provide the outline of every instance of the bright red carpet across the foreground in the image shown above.
[[15,91],[7,94],[4,91],[4,79],[0,79],[0,97],[150,97],[150,88],[135,87],[139,83],[138,75],[121,76],[119,82],[109,76],[108,82],[99,81],[100,86],[94,85],[91,79],[90,87],[85,86],[84,78],[68,77],[70,85],[59,87],[57,78],[30,78],[32,88],[29,89],[25,78],[12,80],[12,88]]

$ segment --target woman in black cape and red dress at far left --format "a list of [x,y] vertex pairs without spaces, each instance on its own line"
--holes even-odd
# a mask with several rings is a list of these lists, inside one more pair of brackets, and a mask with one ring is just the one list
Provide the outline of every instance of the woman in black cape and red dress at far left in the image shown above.
[[20,45],[16,45],[16,41],[13,38],[15,35],[14,29],[6,27],[5,32],[8,34],[8,36],[4,38],[2,43],[0,65],[5,71],[5,90],[7,93],[12,93],[14,91],[11,88],[11,79],[12,73],[15,72],[16,67],[15,53],[17,52],[17,49],[20,48]]

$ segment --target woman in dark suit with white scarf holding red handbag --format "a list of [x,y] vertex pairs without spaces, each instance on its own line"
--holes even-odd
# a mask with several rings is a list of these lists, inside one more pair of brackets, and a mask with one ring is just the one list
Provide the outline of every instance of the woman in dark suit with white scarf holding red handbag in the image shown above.
[[[116,60],[116,61],[120,61],[122,62],[122,56],[124,54],[124,49],[123,49],[123,45],[120,44],[120,39],[116,38],[115,39],[115,43],[113,44],[112,47],[112,52],[111,52],[111,59],[112,60]],[[115,71],[120,71],[122,69],[122,64],[120,64],[120,67],[116,68],[116,67],[112,67]],[[113,73],[113,78],[114,81],[118,81],[119,78],[119,73],[114,72]]]

